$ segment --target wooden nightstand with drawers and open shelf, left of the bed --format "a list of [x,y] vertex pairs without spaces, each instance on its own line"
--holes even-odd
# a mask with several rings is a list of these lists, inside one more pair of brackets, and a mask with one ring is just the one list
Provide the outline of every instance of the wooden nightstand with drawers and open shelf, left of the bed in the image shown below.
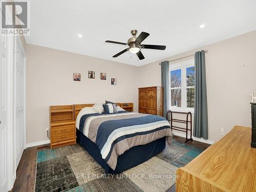
[[51,148],[76,143],[73,105],[50,106]]

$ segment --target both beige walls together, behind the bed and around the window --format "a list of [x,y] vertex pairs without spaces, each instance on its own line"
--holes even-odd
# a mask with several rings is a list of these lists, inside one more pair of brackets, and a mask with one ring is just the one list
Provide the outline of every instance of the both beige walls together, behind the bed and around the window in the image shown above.
[[[256,91],[256,31],[223,40],[163,60],[173,60],[198,50],[206,53],[209,140],[217,141],[221,127],[250,126],[250,92]],[[27,143],[46,140],[49,105],[94,103],[109,99],[134,102],[138,87],[161,86],[156,61],[142,67],[27,44]],[[193,59],[188,57],[183,61]],[[177,62],[177,61],[176,61]],[[96,79],[88,79],[88,70]],[[72,79],[81,73],[81,82]],[[107,73],[100,80],[99,73]],[[111,86],[110,78],[117,78]]]

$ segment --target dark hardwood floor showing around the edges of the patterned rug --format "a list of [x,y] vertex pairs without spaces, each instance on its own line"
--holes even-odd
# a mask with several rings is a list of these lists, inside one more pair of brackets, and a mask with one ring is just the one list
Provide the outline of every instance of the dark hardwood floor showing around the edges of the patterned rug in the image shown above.
[[[185,138],[175,136],[175,139],[180,142],[184,142]],[[187,144],[195,146],[205,150],[209,147],[209,144],[202,143],[199,141],[188,141]],[[17,171],[16,171],[16,181],[12,188],[12,192],[33,192],[35,185],[35,176],[36,176],[36,153],[41,150],[49,149],[49,145],[39,145],[34,147],[26,148],[23,152],[22,159],[19,162]],[[175,184],[170,187],[167,191],[174,192],[176,189]]]

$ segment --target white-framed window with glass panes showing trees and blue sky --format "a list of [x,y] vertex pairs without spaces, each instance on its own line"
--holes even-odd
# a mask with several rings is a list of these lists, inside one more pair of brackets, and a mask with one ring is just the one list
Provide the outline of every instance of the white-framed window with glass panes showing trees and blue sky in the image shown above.
[[193,110],[195,106],[194,60],[170,64],[170,108]]

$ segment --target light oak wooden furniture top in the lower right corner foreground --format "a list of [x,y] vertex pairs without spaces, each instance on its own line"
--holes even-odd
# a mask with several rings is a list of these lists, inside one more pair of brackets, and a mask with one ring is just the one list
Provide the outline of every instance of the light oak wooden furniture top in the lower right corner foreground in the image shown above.
[[177,170],[176,191],[256,191],[251,128],[234,126],[220,141]]

